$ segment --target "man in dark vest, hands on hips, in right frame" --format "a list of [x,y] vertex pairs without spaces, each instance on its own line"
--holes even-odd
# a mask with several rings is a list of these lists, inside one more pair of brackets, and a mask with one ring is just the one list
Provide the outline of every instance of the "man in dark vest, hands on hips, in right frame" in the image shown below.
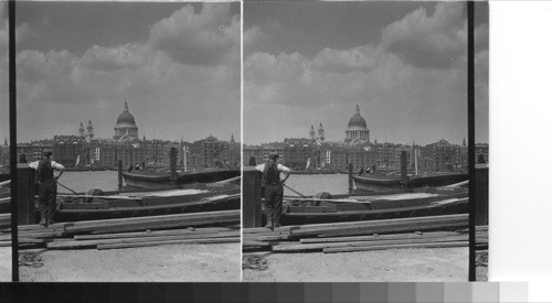
[[[266,163],[255,166],[263,173],[262,186],[265,187],[266,228],[274,230],[280,226],[282,206],[284,203],[284,182],[289,177],[288,167],[278,163],[279,155],[270,152]],[[286,176],[280,180],[280,173]]]

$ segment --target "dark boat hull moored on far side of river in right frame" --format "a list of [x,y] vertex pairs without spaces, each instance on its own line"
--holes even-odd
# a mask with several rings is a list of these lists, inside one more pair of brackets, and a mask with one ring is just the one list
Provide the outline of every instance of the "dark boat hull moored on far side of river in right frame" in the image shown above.
[[401,188],[417,188],[425,186],[446,186],[468,180],[468,174],[435,174],[410,177],[406,183],[400,176],[358,176],[352,178],[358,190],[367,192],[382,192]]

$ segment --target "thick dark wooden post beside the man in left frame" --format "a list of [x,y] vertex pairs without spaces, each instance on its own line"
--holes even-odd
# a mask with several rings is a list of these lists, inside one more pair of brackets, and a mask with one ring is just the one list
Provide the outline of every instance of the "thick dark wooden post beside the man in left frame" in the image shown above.
[[35,224],[34,170],[29,164],[18,164],[18,225]]

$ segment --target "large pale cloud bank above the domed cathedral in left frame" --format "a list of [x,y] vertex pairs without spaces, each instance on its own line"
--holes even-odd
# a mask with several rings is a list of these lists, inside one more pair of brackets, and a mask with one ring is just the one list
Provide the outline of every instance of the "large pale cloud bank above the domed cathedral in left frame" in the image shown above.
[[[113,119],[128,98],[140,137],[151,138],[157,123],[158,138],[176,139],[195,123],[205,133],[227,136],[221,139],[230,139],[230,131],[237,138],[240,23],[227,6],[205,4],[200,13],[185,6],[153,23],[141,41],[91,45],[82,55],[21,50],[17,54],[18,120],[25,127],[18,137],[25,141],[74,133],[74,126],[91,118],[98,134],[109,137]],[[201,58],[179,53],[174,47],[180,44],[201,53]],[[216,123],[198,121],[213,115],[220,116]],[[44,127],[29,128],[38,125]],[[204,136],[203,131],[190,136]]]

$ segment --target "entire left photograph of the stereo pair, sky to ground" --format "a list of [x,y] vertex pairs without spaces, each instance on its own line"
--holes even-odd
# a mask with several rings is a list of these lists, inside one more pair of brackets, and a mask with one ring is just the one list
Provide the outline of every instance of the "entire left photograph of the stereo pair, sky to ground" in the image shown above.
[[21,281],[240,281],[240,6],[17,3]]

